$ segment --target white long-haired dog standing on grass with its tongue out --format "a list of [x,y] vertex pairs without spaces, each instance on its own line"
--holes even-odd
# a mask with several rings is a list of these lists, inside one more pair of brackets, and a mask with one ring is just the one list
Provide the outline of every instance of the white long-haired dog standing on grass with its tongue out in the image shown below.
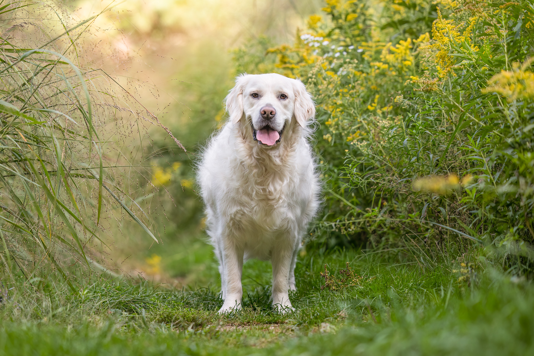
[[315,105],[300,80],[279,74],[237,77],[225,104],[229,120],[198,170],[221,273],[219,313],[241,306],[242,266],[249,258],[271,260],[272,303],[288,311],[297,251],[319,205],[307,140]]

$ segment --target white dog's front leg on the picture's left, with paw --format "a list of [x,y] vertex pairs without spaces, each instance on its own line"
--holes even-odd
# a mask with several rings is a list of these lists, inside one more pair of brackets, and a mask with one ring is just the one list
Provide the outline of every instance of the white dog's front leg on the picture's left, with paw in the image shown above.
[[223,245],[221,252],[226,296],[219,313],[227,313],[241,308],[241,297],[243,296],[243,287],[241,285],[243,249],[231,240],[224,241]]

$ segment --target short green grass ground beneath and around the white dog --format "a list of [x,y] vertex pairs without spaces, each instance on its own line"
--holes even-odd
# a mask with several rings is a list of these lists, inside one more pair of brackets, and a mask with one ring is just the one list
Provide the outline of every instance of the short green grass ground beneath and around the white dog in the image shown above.
[[[452,250],[452,249],[451,249]],[[80,295],[28,288],[2,308],[3,354],[529,354],[534,288],[485,250],[302,254],[295,312],[270,307],[268,263],[245,265],[244,308],[216,288],[96,281]],[[453,256],[454,255],[454,256]],[[355,273],[340,274],[349,263]],[[320,273],[329,271],[328,279]],[[333,277],[332,277],[333,276]],[[211,286],[215,285],[215,281]],[[321,289],[321,286],[328,287]],[[65,289],[67,290],[67,289]]]

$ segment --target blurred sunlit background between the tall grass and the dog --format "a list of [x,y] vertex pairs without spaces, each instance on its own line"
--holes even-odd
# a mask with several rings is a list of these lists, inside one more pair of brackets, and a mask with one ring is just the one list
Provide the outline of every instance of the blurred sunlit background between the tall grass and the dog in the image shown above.
[[[143,164],[153,166],[147,170],[158,192],[146,199],[160,243],[135,223],[117,222],[108,258],[123,273],[178,287],[219,283],[194,191],[194,161],[224,120],[222,101],[238,74],[233,57],[241,46],[250,39],[261,39],[265,48],[292,43],[320,5],[318,0],[72,4],[74,21],[99,14],[83,40],[90,43],[85,46],[90,53],[80,56],[89,61],[85,65],[112,74],[187,149],[184,153],[156,126],[136,138],[136,145],[144,145]],[[264,267],[260,270],[269,273],[269,264]]]

